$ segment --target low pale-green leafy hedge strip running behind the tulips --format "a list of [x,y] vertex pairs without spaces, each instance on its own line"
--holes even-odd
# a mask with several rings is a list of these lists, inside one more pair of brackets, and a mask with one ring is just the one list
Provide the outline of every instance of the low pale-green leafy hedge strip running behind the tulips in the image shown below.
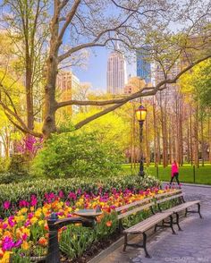
[[[159,187],[159,185],[160,182],[155,177],[142,178],[131,175],[116,176],[101,181],[72,178],[1,184],[0,203],[4,204],[4,206],[0,206],[0,216],[10,216],[23,206],[41,207],[46,202],[47,193],[57,194],[65,201],[71,192],[75,195],[75,198],[79,198],[80,192],[84,191],[92,192],[95,195],[104,194],[105,192],[110,193],[114,188],[116,191],[130,189],[138,192],[154,186]],[[60,195],[60,192],[63,192],[63,196]],[[31,196],[36,196],[36,200],[31,200]],[[7,202],[5,203],[5,201]],[[37,202],[36,204],[34,204],[35,201]]]

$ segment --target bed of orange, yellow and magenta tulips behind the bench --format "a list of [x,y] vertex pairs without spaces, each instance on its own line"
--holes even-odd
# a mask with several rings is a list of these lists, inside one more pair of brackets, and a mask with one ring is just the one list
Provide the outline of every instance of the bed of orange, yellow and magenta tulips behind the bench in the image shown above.
[[[38,199],[35,195],[30,197],[30,201],[22,200],[20,204],[22,208],[13,211],[12,216],[0,221],[0,262],[8,262],[6,260],[11,255],[13,262],[21,262],[23,257],[24,262],[28,260],[30,262],[30,257],[45,256],[48,240],[46,219],[52,212],[55,212],[59,218],[71,217],[74,216],[74,211],[80,208],[96,208],[99,205],[104,213],[97,218],[95,231],[82,228],[80,225],[77,227],[69,225],[64,226],[59,232],[60,249],[63,255],[69,259],[81,257],[93,242],[105,240],[115,233],[118,222],[114,208],[153,196],[157,192],[164,192],[156,187],[147,191],[129,189],[117,191],[114,188],[109,192],[103,191],[102,188],[99,191],[97,195],[87,191],[78,190],[77,193],[71,191],[67,197],[64,196],[63,191],[59,191],[58,194],[50,192],[43,197],[44,204],[40,208],[37,208]],[[5,208],[9,213],[9,208]],[[124,224],[132,225],[148,216],[148,213],[148,210],[137,213]]]

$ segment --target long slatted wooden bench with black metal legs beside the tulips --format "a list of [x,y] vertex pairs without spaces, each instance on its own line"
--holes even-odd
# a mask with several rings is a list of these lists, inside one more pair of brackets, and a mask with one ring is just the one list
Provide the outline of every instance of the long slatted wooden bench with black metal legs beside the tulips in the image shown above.
[[[147,199],[141,199],[139,201],[132,202],[128,205],[124,205],[119,208],[115,208],[115,211],[117,213],[117,218],[119,220],[119,229],[124,234],[124,246],[123,251],[126,250],[127,246],[132,247],[138,247],[143,248],[145,251],[146,258],[150,258],[147,250],[147,232],[152,227],[170,227],[172,229],[173,234],[175,234],[175,231],[173,229],[173,224],[178,225],[179,230],[181,230],[181,227],[179,225],[179,213],[182,210],[185,210],[185,216],[187,216],[188,213],[198,213],[200,217],[200,201],[189,201],[185,202],[183,199],[184,194],[181,192],[181,190],[176,191],[169,191],[162,194],[157,194],[155,197],[149,197]],[[173,208],[168,208],[166,210],[162,210],[161,204],[165,203],[167,201],[177,201],[179,202],[178,205],[174,206]],[[191,206],[197,204],[198,205],[198,211],[192,211],[188,210]],[[155,213],[154,208],[158,208],[158,211]],[[123,229],[122,226],[122,219],[131,216],[137,212],[143,211],[144,209],[150,209],[152,216],[149,216],[147,219],[139,222],[136,225],[132,225],[131,227],[127,229]],[[173,221],[173,215],[176,216],[176,221]],[[166,221],[167,220],[167,221]],[[159,225],[162,223],[161,225]],[[129,243],[128,242],[128,235],[130,234],[142,234],[143,236],[143,242],[142,244],[137,243]]]

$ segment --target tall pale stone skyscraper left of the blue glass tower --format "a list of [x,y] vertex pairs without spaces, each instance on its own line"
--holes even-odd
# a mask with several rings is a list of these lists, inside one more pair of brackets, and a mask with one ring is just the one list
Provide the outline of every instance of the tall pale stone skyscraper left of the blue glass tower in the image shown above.
[[124,56],[118,52],[112,52],[107,61],[107,92],[111,94],[123,94],[126,82],[126,64]]

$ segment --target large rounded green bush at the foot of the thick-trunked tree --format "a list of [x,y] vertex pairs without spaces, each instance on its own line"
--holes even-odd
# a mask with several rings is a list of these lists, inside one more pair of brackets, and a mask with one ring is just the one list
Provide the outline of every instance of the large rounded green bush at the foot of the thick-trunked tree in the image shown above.
[[122,154],[114,143],[99,143],[93,133],[53,135],[32,165],[46,178],[111,177],[121,171]]

